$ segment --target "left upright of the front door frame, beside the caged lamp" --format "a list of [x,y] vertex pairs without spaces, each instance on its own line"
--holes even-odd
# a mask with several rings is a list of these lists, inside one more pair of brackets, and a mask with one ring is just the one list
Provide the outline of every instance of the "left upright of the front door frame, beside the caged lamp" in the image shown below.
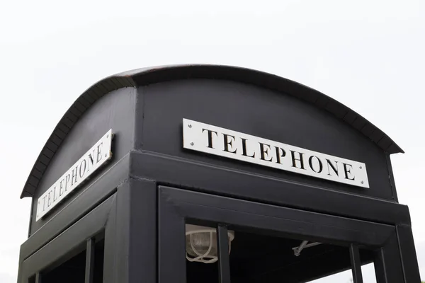
[[159,283],[186,283],[185,219],[159,189]]

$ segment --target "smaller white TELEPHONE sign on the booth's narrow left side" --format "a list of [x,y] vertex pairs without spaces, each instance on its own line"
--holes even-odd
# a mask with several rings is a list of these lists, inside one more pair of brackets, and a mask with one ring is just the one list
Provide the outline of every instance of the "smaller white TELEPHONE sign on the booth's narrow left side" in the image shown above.
[[35,221],[50,212],[53,207],[64,200],[70,192],[111,158],[112,135],[112,129],[110,129],[74,166],[69,168],[55,184],[38,198]]

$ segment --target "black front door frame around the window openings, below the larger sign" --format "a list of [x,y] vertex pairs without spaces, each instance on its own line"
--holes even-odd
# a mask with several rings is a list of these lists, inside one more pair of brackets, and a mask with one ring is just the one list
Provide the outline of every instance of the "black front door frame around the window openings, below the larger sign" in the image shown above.
[[160,185],[158,189],[159,283],[186,283],[186,219],[214,222],[219,232],[220,226],[230,225],[325,239],[326,243],[346,245],[354,252],[358,252],[358,246],[372,246],[376,248],[378,282],[404,282],[395,226],[174,187]]

